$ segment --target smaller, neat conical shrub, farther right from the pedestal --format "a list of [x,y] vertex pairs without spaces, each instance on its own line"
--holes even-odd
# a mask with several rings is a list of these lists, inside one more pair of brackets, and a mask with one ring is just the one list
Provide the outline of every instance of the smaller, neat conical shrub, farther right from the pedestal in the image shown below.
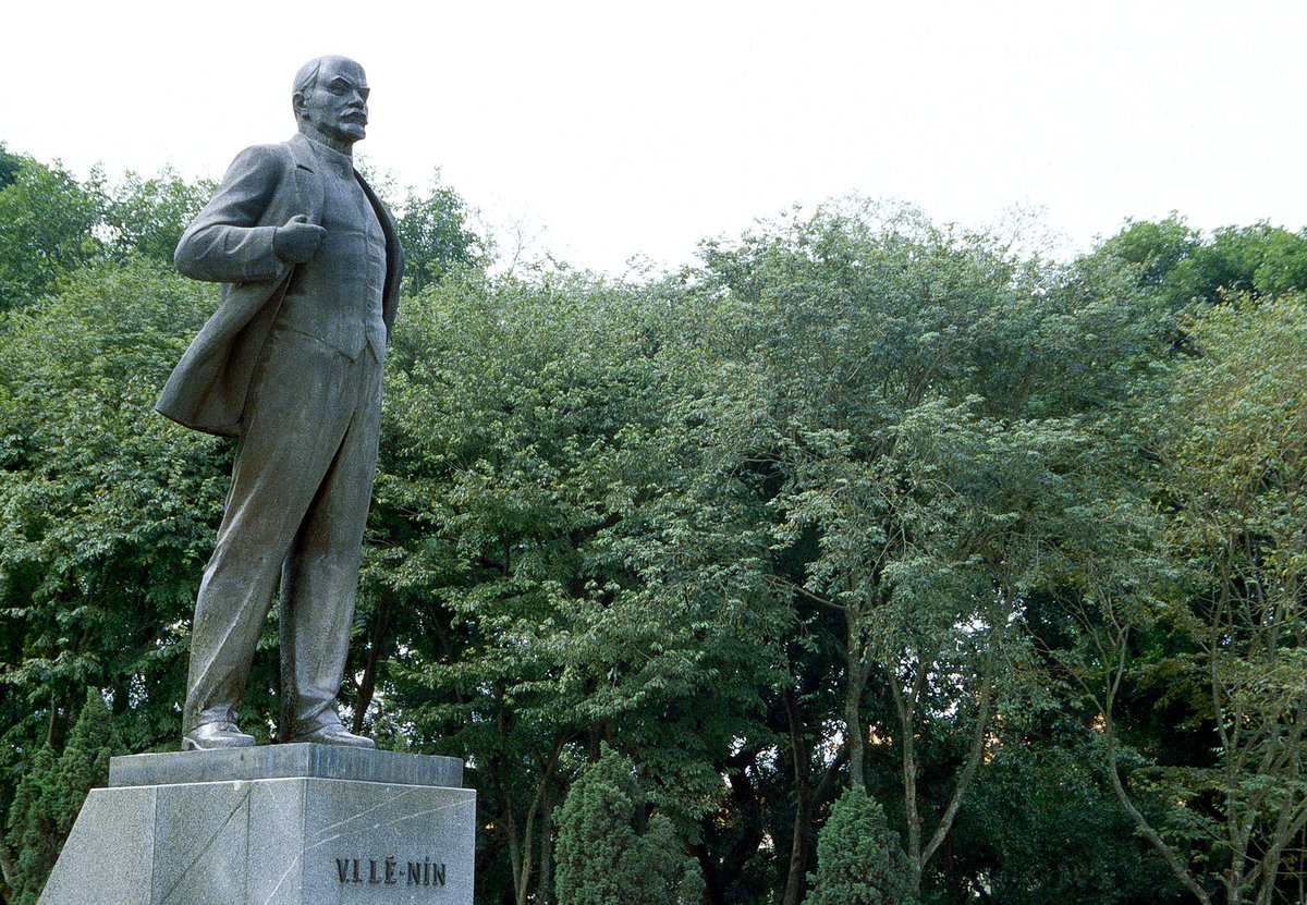
[[844,790],[817,837],[817,872],[806,905],[911,905],[912,867],[880,803]]

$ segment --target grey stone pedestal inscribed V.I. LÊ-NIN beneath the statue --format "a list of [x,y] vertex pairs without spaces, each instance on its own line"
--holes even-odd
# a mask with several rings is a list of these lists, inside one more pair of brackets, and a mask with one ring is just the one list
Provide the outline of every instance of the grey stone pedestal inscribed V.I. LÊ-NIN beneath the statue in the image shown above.
[[115,757],[38,905],[472,905],[452,757],[320,744]]

